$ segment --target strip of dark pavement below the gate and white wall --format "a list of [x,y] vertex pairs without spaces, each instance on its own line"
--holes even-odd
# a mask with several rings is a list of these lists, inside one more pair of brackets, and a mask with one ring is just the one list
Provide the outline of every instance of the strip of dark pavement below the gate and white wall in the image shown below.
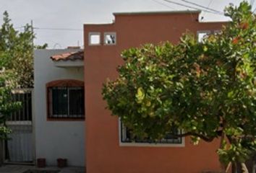
[[[46,168],[38,168],[35,166],[27,166],[27,165],[2,165],[0,167],[0,173],[25,173],[28,170],[41,170],[45,171],[42,173],[48,173],[46,171],[50,170],[59,170],[58,173],[85,173],[85,167],[64,167],[64,168],[58,168],[58,167],[46,167]],[[35,172],[40,173],[40,172]],[[50,173],[50,172],[49,172]]]

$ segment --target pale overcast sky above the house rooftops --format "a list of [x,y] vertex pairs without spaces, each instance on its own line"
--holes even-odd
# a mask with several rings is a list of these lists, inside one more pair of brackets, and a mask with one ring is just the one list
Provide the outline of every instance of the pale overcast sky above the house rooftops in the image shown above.
[[[187,6],[200,4],[223,12],[230,3],[238,5],[242,0],[0,0],[0,25],[2,14],[9,13],[17,30],[33,21],[35,45],[48,44],[48,48],[83,46],[82,27],[84,24],[111,23],[114,12],[162,12],[195,10]],[[256,8],[254,0],[252,9]],[[228,20],[221,14],[202,12],[202,22]]]

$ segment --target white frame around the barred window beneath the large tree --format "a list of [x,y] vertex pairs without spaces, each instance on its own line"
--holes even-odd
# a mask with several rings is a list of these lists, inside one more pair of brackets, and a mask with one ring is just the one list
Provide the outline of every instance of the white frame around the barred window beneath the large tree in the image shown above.
[[121,141],[121,120],[119,118],[119,146],[140,146],[140,147],[184,147],[185,137],[182,137],[182,143],[124,143]]

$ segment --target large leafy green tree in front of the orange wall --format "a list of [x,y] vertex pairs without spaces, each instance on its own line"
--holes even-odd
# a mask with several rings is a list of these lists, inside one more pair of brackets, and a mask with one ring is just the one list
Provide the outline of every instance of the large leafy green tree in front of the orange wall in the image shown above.
[[202,43],[187,33],[177,45],[124,50],[103,99],[135,136],[157,140],[180,128],[176,136],[195,144],[220,138],[225,169],[241,163],[245,171],[256,149],[256,19],[245,1],[225,14],[231,22]]

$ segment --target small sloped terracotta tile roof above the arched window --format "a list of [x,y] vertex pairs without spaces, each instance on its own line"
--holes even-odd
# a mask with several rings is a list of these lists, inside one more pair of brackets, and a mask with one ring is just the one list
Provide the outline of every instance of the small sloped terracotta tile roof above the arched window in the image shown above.
[[58,55],[51,56],[53,61],[76,61],[76,60],[83,60],[84,59],[84,51],[76,51],[76,52],[69,52],[69,53],[61,53]]

